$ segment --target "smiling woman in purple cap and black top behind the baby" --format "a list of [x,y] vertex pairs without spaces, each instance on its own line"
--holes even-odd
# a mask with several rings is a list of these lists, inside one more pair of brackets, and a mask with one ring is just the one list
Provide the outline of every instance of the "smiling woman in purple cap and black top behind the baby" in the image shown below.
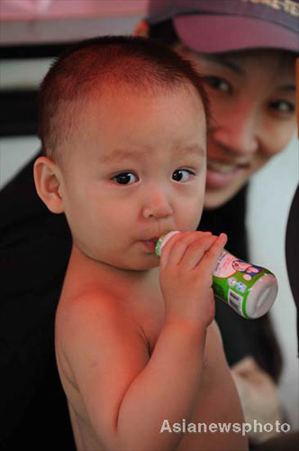
[[[297,5],[291,0],[288,4]],[[222,5],[225,5],[225,10]],[[232,18],[228,20],[230,11],[227,8],[230,5],[231,14],[238,12],[238,16],[234,16],[233,33]],[[190,15],[185,17],[186,13]],[[262,18],[255,19],[259,29],[253,32],[252,17],[246,14],[259,16],[261,13]],[[244,226],[247,181],[255,170],[285,147],[294,131],[294,68],[286,69],[289,60],[294,60],[289,55],[293,55],[298,36],[292,30],[296,23],[294,13],[297,14],[296,9],[289,12],[276,10],[268,5],[259,5],[256,0],[160,0],[150,3],[150,25],[144,27],[143,24],[139,29],[143,34],[149,32],[150,36],[175,45],[177,51],[192,58],[203,73],[213,105],[213,124],[209,138],[206,211],[200,228],[213,229],[217,233],[219,227],[229,235],[229,250],[244,259],[248,258]],[[239,23],[240,28],[237,19],[244,21]],[[283,26],[281,20],[285,23]],[[275,32],[269,34],[269,29]],[[184,31],[190,35],[183,35]],[[204,35],[204,31],[209,35]],[[193,41],[195,32],[196,41]],[[254,45],[245,41],[245,36],[249,41],[255,36]],[[264,45],[262,38],[268,39]],[[277,41],[282,43],[278,46]],[[205,43],[206,48],[198,47],[199,42]],[[267,51],[260,53],[262,56],[259,57],[258,52],[244,51],[265,46],[277,49],[280,45],[285,46],[285,53]],[[241,50],[239,54],[232,52],[238,48]],[[230,59],[223,58],[224,53],[218,53],[224,51]],[[268,64],[271,65],[271,75],[267,70]],[[264,90],[274,83],[272,78],[277,72],[277,64],[279,74],[281,70],[285,74],[283,89],[271,96],[269,93],[265,95]],[[248,80],[245,76],[249,68],[250,73],[258,70],[258,82],[257,78],[244,81]],[[266,74],[272,78],[265,78],[263,89],[260,89],[259,84]],[[252,140],[249,131],[256,130],[257,124],[264,127]],[[267,137],[270,144],[261,145],[261,136]],[[31,450],[55,449],[56,437],[59,436],[60,447],[71,450],[74,444],[53,346],[55,309],[71,244],[68,226],[64,216],[50,215],[42,206],[33,186],[32,162],[5,187],[0,200],[4,294],[0,344],[3,348],[1,374],[5,386],[1,403],[3,441],[0,443],[4,449],[5,446],[19,449],[26,445]],[[244,373],[248,375],[247,380],[256,380],[251,375],[258,372],[263,383],[266,378],[267,387],[270,386],[273,393],[273,382],[268,383],[268,377],[278,377],[280,361],[272,358],[273,349],[276,349],[274,354],[278,352],[273,333],[267,339],[271,334],[268,320],[246,321],[217,302],[217,321],[222,328],[225,352],[235,368],[238,381],[240,374]],[[250,358],[244,362],[245,356]],[[261,372],[260,368],[271,376]],[[22,385],[17,377],[21,372]],[[240,383],[240,390],[248,387],[244,377]],[[254,384],[249,386],[255,387]],[[45,403],[47,410],[44,409]]]

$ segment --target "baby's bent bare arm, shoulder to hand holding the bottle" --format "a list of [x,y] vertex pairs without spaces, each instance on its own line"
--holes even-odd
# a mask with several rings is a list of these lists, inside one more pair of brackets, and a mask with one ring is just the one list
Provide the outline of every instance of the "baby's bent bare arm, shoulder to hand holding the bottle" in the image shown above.
[[140,329],[114,299],[86,294],[58,318],[62,352],[104,449],[166,451],[179,443],[180,434],[159,430],[164,419],[190,419],[195,409],[214,314],[212,272],[224,243],[193,233],[165,246],[166,322],[150,357]]

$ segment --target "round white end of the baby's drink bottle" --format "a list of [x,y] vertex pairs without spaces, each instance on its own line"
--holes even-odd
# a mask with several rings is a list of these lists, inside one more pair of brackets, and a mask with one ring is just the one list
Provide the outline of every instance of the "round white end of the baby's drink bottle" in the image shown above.
[[246,313],[255,319],[265,315],[276,299],[278,284],[274,274],[264,274],[249,291]]

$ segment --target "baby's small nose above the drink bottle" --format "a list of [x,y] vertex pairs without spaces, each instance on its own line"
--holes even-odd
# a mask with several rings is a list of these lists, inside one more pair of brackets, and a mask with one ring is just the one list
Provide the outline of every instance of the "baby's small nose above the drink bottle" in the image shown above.
[[167,193],[158,189],[150,189],[143,201],[142,216],[146,219],[155,217],[157,219],[173,214]]

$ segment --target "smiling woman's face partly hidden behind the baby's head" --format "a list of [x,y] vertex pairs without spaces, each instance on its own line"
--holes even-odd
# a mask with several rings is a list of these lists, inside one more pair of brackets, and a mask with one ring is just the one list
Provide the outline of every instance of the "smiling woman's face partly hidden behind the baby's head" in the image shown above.
[[206,208],[232,198],[289,142],[295,127],[294,58],[282,51],[177,51],[201,72],[212,106]]

